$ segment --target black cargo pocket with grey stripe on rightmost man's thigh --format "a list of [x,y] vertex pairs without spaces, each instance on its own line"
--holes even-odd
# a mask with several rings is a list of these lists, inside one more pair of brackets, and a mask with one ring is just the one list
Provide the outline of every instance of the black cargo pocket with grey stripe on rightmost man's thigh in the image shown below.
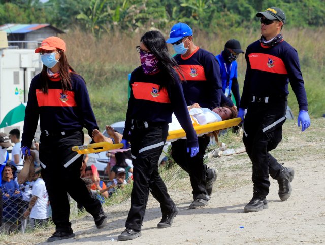
[[266,134],[269,139],[267,151],[271,151],[277,147],[282,140],[282,125],[286,118],[283,116],[269,125],[263,125],[262,131]]

